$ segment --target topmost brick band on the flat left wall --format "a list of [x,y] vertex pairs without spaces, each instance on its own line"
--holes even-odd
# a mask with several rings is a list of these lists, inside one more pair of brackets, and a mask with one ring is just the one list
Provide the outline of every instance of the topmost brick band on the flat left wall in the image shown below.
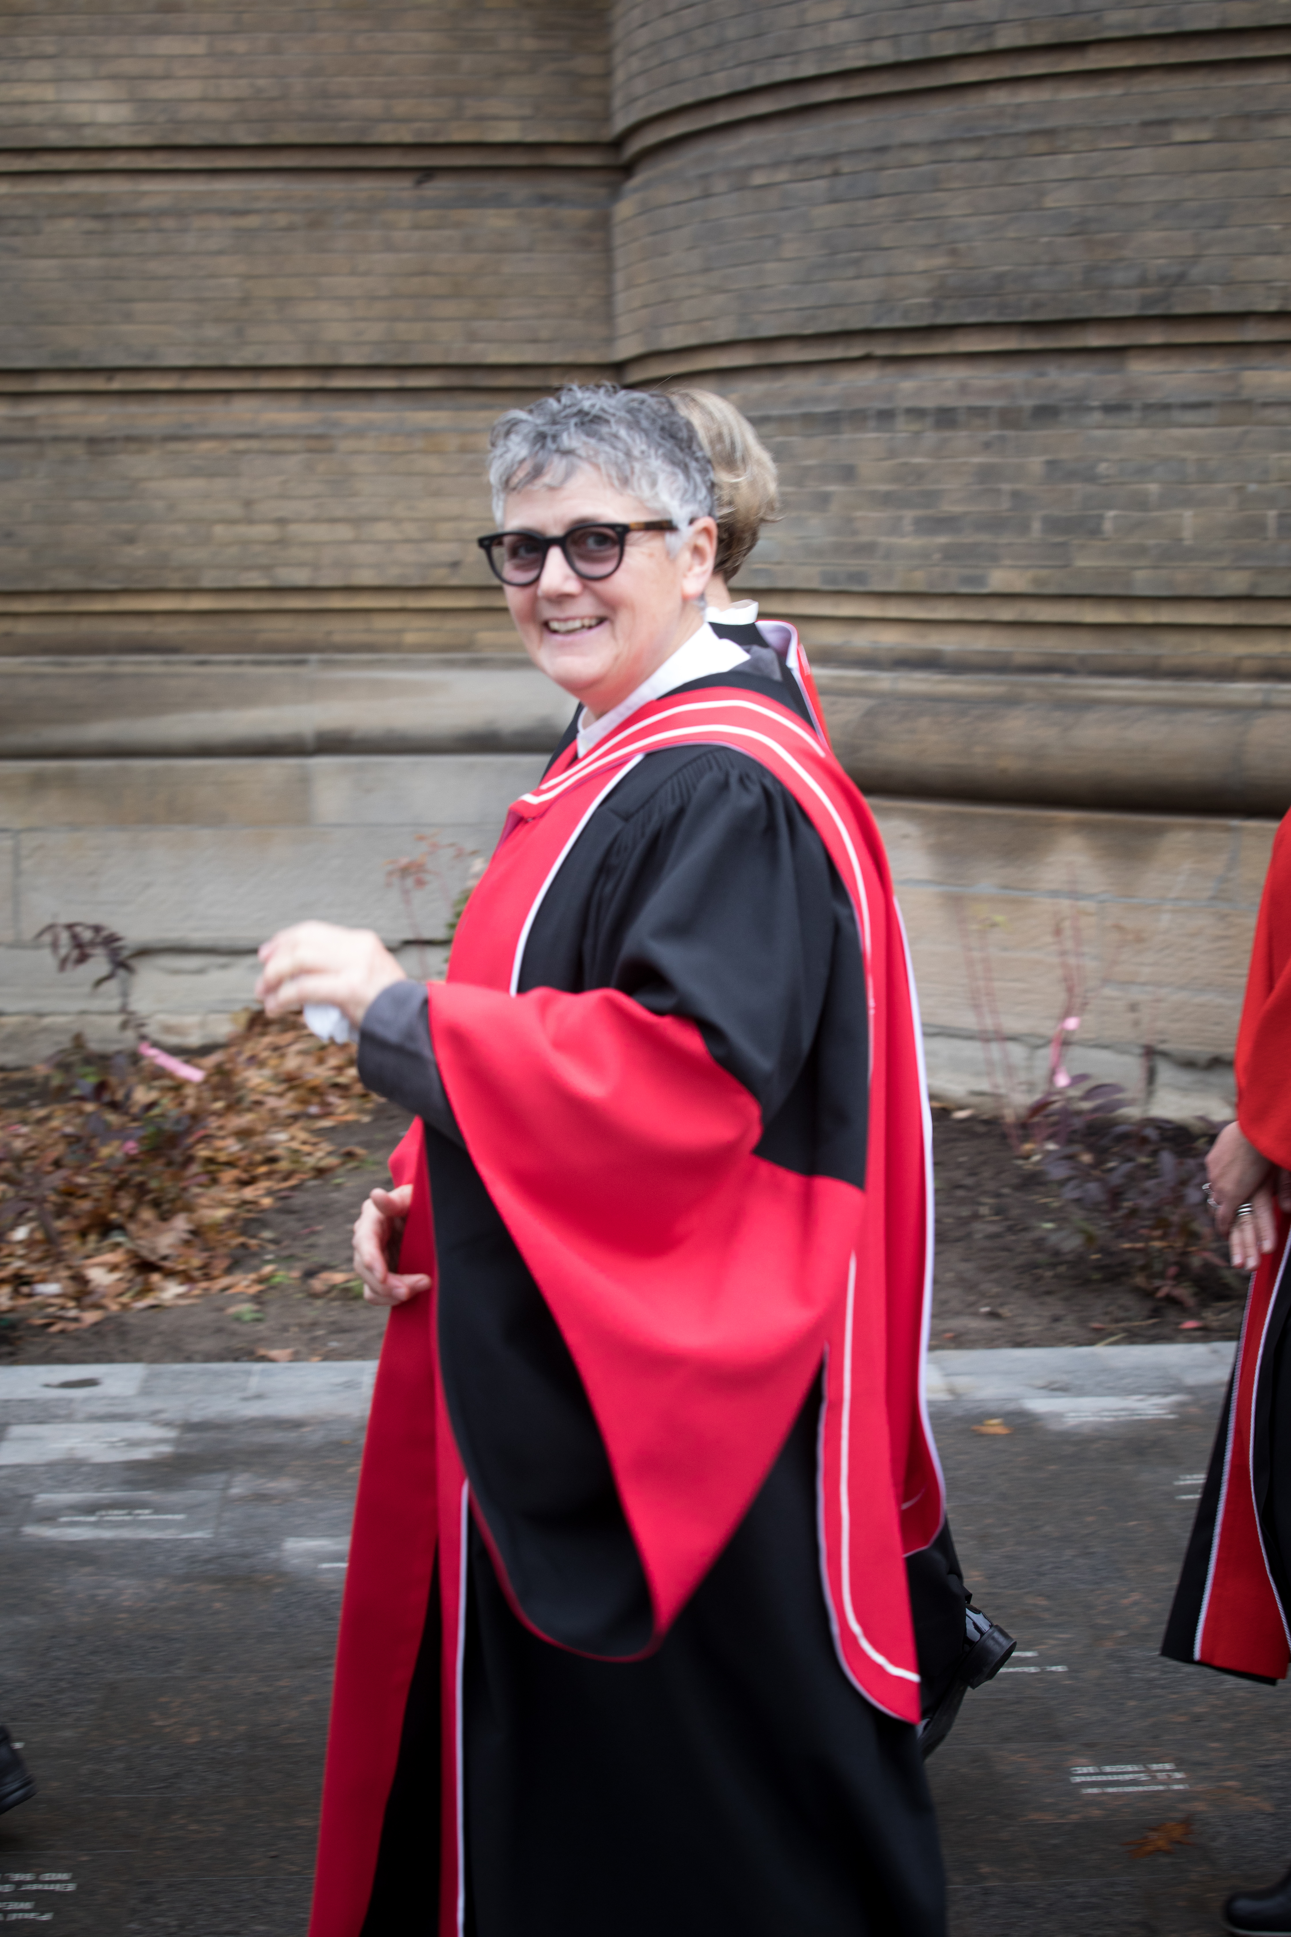
[[608,52],[596,4],[17,0],[0,120],[39,153],[604,139]]

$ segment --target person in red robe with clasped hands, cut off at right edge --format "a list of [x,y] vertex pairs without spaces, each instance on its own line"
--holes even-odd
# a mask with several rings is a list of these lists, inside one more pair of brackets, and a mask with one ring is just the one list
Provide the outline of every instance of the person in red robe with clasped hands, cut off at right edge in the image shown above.
[[[1206,1201],[1250,1290],[1161,1654],[1254,1681],[1291,1660],[1291,814],[1274,839],[1237,1032],[1237,1118]],[[1291,1931],[1291,1871],[1229,1896],[1239,1937]]]

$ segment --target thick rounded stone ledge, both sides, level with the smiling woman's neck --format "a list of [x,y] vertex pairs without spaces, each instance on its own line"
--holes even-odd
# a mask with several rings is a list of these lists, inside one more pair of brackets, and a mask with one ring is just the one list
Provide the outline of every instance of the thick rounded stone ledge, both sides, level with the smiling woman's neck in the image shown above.
[[[1291,688],[821,666],[867,792],[1281,817]],[[0,759],[544,753],[571,701],[511,655],[12,659]]]

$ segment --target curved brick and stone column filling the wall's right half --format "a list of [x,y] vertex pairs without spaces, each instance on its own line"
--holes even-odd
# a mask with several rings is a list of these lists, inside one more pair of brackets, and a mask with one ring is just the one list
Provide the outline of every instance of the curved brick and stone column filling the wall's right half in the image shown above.
[[1270,0],[615,8],[615,353],[780,463],[739,585],[881,796],[943,1092],[985,978],[1024,1091],[1074,1011],[1225,1108],[1291,806],[1289,85]]

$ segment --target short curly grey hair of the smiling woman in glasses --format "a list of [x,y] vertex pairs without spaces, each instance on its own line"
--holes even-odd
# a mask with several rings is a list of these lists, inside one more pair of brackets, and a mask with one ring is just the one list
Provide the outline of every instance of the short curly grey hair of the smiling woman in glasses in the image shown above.
[[697,517],[712,517],[712,465],[687,418],[658,391],[569,384],[523,411],[503,411],[490,432],[488,480],[501,525],[511,492],[559,488],[575,471],[600,471],[677,525],[674,550]]

